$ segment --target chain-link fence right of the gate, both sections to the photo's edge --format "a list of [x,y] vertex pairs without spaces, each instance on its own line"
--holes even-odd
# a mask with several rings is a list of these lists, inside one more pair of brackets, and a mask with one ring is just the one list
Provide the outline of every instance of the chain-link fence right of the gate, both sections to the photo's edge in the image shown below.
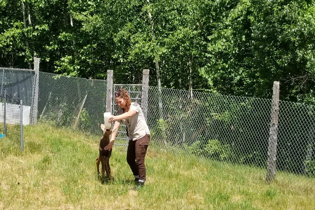
[[[158,107],[161,96],[162,112]],[[156,145],[215,161],[266,169],[272,99],[150,87],[148,124]],[[280,101],[277,173],[315,178],[314,106]]]

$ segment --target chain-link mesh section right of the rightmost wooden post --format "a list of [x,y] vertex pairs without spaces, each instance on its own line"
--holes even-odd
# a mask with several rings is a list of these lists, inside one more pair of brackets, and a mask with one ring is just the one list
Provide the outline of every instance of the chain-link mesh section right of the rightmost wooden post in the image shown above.
[[314,106],[280,101],[277,169],[315,178]]

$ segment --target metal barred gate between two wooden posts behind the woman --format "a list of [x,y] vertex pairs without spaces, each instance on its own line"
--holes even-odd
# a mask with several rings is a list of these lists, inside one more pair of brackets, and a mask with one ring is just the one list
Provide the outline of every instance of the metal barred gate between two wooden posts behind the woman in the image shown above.
[[[117,115],[118,112],[114,94],[119,88],[124,88],[128,91],[131,102],[136,102],[141,105],[142,84],[113,84],[113,115]],[[127,126],[120,123],[114,145],[128,146],[129,137],[127,136],[126,131]]]

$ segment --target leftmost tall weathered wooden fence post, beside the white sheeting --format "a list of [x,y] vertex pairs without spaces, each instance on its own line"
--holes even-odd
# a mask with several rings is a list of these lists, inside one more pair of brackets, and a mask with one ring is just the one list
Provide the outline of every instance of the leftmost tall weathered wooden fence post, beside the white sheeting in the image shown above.
[[39,80],[39,58],[34,57],[34,87],[32,93],[30,125],[37,123],[37,108],[38,108],[38,80]]

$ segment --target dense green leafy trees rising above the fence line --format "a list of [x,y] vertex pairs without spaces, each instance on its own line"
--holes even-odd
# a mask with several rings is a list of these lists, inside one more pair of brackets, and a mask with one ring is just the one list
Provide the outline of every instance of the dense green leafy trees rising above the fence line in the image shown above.
[[315,104],[315,1],[0,0],[0,66]]

